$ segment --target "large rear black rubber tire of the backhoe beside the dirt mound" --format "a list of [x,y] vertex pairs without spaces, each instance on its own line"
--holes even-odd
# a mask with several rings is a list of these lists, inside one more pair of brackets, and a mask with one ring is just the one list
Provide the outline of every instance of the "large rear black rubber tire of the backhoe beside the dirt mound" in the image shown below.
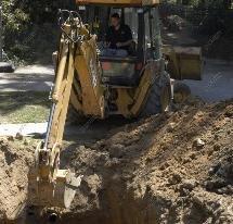
[[147,97],[147,101],[141,112],[141,116],[151,116],[154,114],[165,112],[163,109],[163,92],[164,89],[168,89],[169,95],[169,102],[168,107],[171,103],[171,83],[170,83],[170,75],[164,72],[160,76],[156,77],[154,84],[151,88],[150,95]]

